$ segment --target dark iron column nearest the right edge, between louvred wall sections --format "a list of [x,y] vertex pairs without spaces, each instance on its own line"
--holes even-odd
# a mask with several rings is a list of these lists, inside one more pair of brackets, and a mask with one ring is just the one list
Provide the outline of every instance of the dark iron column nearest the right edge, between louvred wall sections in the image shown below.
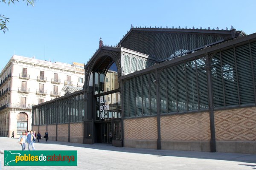
[[206,58],[206,71],[207,71],[207,84],[208,84],[208,94],[209,94],[209,117],[210,117],[210,131],[211,131],[211,140],[210,148],[211,152],[216,152],[216,141],[215,141],[215,124],[214,124],[214,111],[213,111],[213,96],[212,96],[212,69],[211,69],[211,59],[208,54],[205,54]]

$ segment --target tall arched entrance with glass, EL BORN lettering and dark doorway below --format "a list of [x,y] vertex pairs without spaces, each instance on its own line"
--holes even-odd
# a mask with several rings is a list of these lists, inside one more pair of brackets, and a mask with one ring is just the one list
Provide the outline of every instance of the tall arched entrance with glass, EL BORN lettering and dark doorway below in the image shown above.
[[93,119],[95,142],[112,143],[121,140],[121,94],[116,63],[109,56],[102,57],[93,75]]

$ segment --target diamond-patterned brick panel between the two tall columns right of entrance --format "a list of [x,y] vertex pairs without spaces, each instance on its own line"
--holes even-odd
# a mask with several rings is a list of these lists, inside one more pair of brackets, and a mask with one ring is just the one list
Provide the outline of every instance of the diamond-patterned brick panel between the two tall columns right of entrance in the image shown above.
[[209,113],[161,116],[161,140],[209,141]]

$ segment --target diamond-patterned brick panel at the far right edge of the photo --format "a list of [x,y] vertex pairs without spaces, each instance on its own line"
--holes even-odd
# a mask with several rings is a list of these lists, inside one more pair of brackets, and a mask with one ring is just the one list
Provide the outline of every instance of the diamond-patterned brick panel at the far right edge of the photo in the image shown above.
[[216,140],[256,140],[256,107],[215,111],[214,119]]

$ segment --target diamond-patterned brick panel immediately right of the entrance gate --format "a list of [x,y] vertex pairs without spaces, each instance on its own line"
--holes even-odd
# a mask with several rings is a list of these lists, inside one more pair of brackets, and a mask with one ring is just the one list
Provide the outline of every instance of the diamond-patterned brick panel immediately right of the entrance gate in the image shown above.
[[156,140],[157,118],[139,118],[124,120],[125,139]]

